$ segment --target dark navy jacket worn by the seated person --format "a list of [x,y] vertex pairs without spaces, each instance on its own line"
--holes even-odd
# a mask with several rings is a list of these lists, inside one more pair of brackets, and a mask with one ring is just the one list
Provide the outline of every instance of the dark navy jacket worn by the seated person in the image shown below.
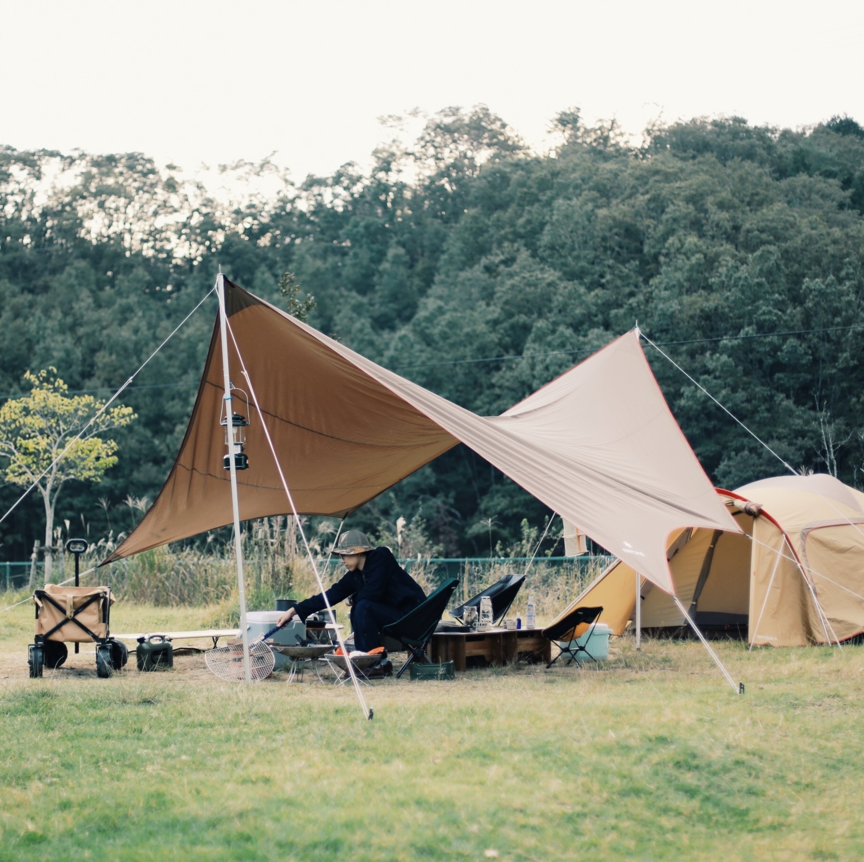
[[[354,597],[355,605],[365,599],[390,605],[405,613],[426,599],[426,593],[423,593],[416,580],[397,563],[390,548],[375,548],[369,551],[362,572],[346,572],[342,580],[327,590],[327,599],[331,606],[338,605],[349,596]],[[302,620],[310,613],[321,611],[325,607],[327,605],[321,593],[295,605],[297,615]]]

